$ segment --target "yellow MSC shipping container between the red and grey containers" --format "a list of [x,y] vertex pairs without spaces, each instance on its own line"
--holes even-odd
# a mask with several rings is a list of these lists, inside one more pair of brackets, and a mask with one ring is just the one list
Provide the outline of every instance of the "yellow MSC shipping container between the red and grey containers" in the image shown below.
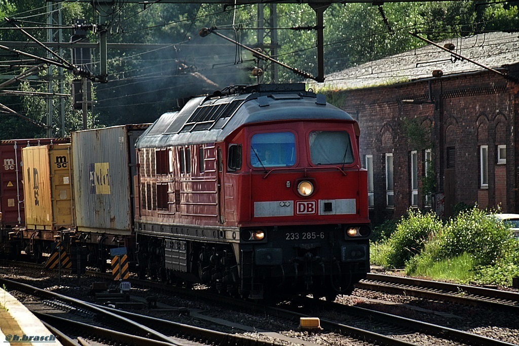
[[70,144],[22,149],[25,224],[28,229],[75,227]]

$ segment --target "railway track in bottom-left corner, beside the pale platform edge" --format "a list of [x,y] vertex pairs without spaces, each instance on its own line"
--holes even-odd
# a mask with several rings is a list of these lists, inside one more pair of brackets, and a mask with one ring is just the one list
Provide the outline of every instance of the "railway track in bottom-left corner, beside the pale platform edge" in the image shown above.
[[[88,338],[101,340],[101,344],[282,346],[170,321],[161,322],[158,319],[138,314],[124,316],[124,313],[119,310],[101,307],[4,278],[0,278],[0,284],[4,284],[9,290],[17,290],[28,296],[37,297],[36,300],[24,302],[24,305],[28,306],[40,320],[54,329],[58,329],[62,334],[69,336],[85,336],[86,334]],[[149,325],[159,326],[167,334],[161,333]]]

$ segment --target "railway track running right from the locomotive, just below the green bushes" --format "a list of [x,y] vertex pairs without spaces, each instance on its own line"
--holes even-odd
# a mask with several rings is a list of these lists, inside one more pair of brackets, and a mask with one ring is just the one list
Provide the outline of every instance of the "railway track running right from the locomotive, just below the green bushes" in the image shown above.
[[357,288],[439,301],[450,301],[467,306],[519,313],[519,293],[505,290],[429,281],[403,276],[367,274]]

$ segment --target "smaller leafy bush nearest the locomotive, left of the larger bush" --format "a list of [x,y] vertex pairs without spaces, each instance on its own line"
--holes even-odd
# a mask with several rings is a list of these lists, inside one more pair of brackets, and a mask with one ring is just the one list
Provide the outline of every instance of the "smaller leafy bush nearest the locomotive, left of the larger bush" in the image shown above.
[[408,216],[402,217],[397,230],[387,241],[388,266],[403,268],[406,261],[421,252],[431,235],[441,229],[442,222],[434,213],[409,210]]

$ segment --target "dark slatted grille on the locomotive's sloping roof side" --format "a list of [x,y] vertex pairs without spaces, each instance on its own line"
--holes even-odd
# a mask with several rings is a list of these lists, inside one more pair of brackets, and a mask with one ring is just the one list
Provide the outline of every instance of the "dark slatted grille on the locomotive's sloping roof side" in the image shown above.
[[[243,101],[244,100],[235,100],[230,103],[200,106],[187,119],[186,123],[179,131],[179,133],[209,130],[216,125],[218,120],[230,118],[231,116],[233,116],[236,113],[236,110],[241,106]],[[221,129],[225,126],[226,123],[227,121],[223,123],[222,126],[215,128]]]

